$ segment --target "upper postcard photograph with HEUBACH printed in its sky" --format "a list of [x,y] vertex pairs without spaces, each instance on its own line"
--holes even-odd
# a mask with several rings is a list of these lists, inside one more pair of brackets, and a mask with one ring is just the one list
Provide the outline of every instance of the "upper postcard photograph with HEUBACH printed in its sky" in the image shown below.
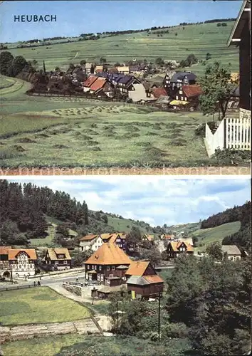
[[1,176],[250,174],[250,0],[0,9]]

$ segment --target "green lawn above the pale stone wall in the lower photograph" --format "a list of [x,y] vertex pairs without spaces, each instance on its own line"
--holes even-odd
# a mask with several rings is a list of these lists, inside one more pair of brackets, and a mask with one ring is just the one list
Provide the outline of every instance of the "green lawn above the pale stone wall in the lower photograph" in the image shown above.
[[48,287],[0,293],[0,320],[4,325],[61,323],[89,316],[87,308]]

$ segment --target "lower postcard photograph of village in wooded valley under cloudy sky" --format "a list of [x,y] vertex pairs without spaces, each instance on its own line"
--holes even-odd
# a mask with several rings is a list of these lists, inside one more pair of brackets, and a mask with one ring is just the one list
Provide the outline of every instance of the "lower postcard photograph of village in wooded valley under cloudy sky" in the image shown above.
[[251,353],[249,177],[0,181],[0,355]]

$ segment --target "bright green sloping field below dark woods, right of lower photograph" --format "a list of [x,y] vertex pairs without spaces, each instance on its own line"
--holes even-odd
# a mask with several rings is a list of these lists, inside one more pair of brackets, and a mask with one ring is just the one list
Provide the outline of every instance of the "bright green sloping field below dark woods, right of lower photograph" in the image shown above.
[[212,242],[221,241],[224,237],[231,234],[235,234],[241,227],[240,221],[234,221],[232,223],[223,224],[209,229],[199,229],[191,233],[191,236],[196,236],[199,241],[196,243],[197,246],[194,251],[204,251],[206,245]]

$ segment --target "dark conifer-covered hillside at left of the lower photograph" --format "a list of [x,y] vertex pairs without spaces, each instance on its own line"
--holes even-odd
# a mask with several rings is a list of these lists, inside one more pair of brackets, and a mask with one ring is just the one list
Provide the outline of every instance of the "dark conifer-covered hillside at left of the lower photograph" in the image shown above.
[[103,211],[90,211],[83,201],[72,199],[65,192],[53,192],[48,187],[0,181],[1,244],[25,245],[30,239],[47,235],[48,216],[61,221],[78,234],[130,231],[132,226],[153,234],[144,221],[123,219]]

